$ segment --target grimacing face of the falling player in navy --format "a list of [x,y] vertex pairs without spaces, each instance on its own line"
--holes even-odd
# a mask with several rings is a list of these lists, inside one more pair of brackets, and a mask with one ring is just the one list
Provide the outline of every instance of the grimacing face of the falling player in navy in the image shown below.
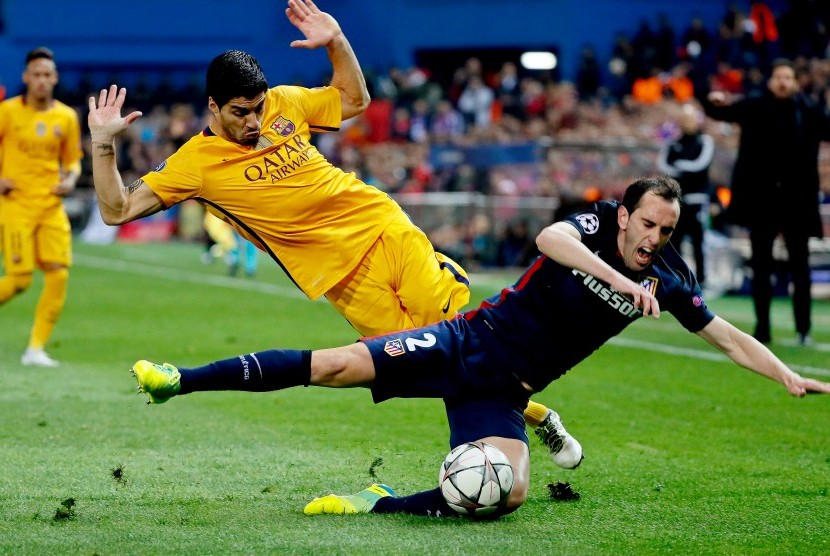
[[643,270],[669,242],[680,218],[680,204],[649,192],[631,214],[622,205],[617,210],[617,247],[623,262],[631,270]]

